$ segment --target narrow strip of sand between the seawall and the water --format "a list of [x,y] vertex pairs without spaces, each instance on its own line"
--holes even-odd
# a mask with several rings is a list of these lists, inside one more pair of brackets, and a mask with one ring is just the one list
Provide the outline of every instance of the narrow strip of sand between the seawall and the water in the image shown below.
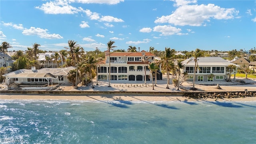
[[52,95],[8,95],[1,94],[0,100],[79,100],[79,101],[122,101],[122,102],[256,102],[256,97],[245,98],[204,98],[194,99],[183,96],[52,96]]

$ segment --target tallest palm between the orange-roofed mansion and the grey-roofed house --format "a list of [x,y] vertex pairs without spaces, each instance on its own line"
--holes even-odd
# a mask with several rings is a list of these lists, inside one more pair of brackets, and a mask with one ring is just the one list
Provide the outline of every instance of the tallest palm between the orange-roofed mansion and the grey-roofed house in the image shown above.
[[165,48],[164,54],[161,58],[161,64],[162,66],[165,67],[166,69],[166,75],[167,75],[167,86],[166,88],[169,89],[169,83],[170,83],[170,60],[172,60],[174,58],[174,54],[175,54],[175,50],[174,49],[170,49],[170,48]]

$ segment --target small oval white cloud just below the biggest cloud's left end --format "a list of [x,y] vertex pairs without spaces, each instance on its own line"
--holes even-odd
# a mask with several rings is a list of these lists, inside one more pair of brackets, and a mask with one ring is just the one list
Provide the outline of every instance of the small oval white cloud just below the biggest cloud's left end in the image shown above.
[[155,26],[153,28],[154,32],[161,32],[161,35],[167,36],[167,35],[173,35],[173,34],[177,34],[181,31],[180,28],[176,28],[173,26]]

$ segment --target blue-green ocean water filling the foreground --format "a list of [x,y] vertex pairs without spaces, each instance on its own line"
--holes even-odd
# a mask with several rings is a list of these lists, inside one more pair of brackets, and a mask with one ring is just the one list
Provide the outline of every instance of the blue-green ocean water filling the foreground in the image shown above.
[[1,144],[256,144],[256,102],[1,100],[0,140]]

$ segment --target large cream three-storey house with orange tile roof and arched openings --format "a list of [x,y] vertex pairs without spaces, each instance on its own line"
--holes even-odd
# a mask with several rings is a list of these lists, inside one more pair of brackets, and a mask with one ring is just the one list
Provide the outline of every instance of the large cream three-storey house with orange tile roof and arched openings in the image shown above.
[[[105,51],[105,60],[99,62],[98,65],[97,78],[108,80],[110,70],[110,80],[144,81],[146,70],[146,80],[151,80],[148,62],[142,61],[143,58],[148,57],[150,57],[149,62],[154,61],[155,56],[151,52],[142,50],[141,52],[111,52],[109,59],[109,53]],[[109,68],[109,63],[111,68]],[[160,71],[158,73],[157,80],[162,80],[162,73]]]

